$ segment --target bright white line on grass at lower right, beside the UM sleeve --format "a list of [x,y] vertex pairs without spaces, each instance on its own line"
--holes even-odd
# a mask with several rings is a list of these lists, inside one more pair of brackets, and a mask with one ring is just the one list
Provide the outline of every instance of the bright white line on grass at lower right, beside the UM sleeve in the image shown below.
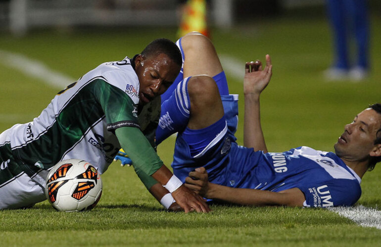
[[360,226],[376,227],[381,230],[381,211],[365,206],[333,207],[330,210],[347,217]]

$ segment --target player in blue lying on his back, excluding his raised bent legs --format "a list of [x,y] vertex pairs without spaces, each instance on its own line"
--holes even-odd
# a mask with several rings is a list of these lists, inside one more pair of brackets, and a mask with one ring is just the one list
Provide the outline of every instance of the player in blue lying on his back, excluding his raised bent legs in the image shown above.
[[[173,167],[184,161],[187,169],[198,167],[189,173],[186,186],[209,199],[255,206],[352,206],[361,196],[364,173],[381,160],[381,104],[370,106],[345,125],[334,144],[335,153],[305,146],[268,153],[259,107],[260,94],[271,77],[268,55],[266,64],[262,71],[260,61],[246,63],[245,147],[226,133],[204,155],[194,156],[189,152],[191,143],[179,135]],[[205,131],[214,128],[211,125]],[[179,177],[183,174],[181,169],[174,173]]]

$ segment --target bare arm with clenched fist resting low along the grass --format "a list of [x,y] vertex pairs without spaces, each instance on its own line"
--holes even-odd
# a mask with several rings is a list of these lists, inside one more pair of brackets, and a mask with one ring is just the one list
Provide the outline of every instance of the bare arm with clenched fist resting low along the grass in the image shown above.
[[186,178],[186,186],[199,195],[238,205],[252,206],[303,206],[305,197],[298,188],[282,192],[231,188],[208,181],[204,167],[196,168]]

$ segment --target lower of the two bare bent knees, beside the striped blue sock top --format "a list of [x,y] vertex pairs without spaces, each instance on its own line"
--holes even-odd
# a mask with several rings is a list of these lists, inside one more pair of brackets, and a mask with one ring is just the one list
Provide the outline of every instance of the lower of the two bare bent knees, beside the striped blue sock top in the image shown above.
[[192,104],[197,105],[208,106],[221,99],[216,82],[207,75],[191,77],[188,82],[188,93]]

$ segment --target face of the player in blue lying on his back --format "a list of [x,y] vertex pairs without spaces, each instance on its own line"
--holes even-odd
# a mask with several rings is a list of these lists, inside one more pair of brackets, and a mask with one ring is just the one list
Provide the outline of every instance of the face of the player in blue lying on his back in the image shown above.
[[379,113],[372,108],[362,111],[352,123],[345,125],[344,133],[334,144],[336,155],[348,161],[366,161],[375,155],[378,145],[374,142],[380,128]]

